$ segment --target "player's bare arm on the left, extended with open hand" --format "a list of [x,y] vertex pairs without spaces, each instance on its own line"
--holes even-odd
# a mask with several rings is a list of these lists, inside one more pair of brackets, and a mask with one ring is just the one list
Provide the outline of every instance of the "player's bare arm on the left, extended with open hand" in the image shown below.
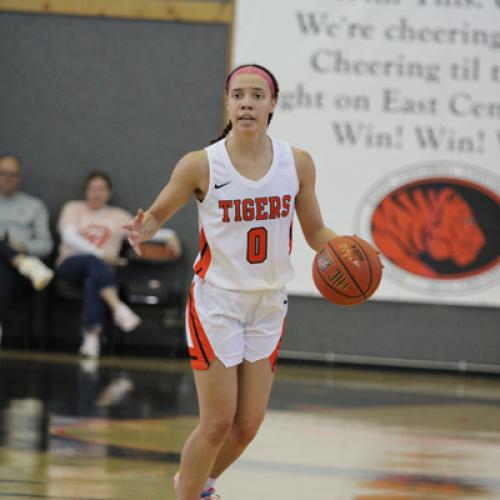
[[174,167],[167,185],[148,210],[144,212],[139,209],[132,222],[123,226],[135,252],[140,255],[140,243],[150,240],[192,195],[203,199],[208,190],[208,183],[209,167],[206,152],[194,151],[183,156]]

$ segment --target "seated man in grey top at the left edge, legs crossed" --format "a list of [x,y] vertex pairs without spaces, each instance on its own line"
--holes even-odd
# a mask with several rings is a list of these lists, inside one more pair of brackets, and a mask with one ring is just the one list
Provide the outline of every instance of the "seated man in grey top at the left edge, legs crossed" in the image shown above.
[[0,156],[0,340],[14,293],[30,282],[42,290],[54,275],[40,260],[53,246],[47,209],[41,200],[18,191],[20,180],[19,159]]

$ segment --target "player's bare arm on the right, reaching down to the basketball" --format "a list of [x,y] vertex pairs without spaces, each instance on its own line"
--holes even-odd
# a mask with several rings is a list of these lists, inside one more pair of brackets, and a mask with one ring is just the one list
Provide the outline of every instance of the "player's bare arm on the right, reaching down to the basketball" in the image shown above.
[[307,151],[293,148],[295,167],[299,178],[299,192],[295,197],[295,211],[308,245],[315,251],[338,236],[326,227],[316,197],[316,167]]

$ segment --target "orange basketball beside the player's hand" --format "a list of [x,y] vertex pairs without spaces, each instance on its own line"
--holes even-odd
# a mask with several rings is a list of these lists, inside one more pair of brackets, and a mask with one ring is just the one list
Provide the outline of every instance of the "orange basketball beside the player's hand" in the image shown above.
[[371,297],[382,279],[377,250],[357,236],[339,236],[326,242],[313,261],[318,291],[340,306],[361,304]]

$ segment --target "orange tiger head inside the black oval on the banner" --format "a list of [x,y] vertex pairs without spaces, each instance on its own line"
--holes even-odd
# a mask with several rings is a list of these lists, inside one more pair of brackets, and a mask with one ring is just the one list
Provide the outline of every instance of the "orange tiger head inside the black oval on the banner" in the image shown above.
[[457,277],[487,240],[457,186],[414,183],[387,195],[372,216],[373,239],[393,264],[427,278]]

